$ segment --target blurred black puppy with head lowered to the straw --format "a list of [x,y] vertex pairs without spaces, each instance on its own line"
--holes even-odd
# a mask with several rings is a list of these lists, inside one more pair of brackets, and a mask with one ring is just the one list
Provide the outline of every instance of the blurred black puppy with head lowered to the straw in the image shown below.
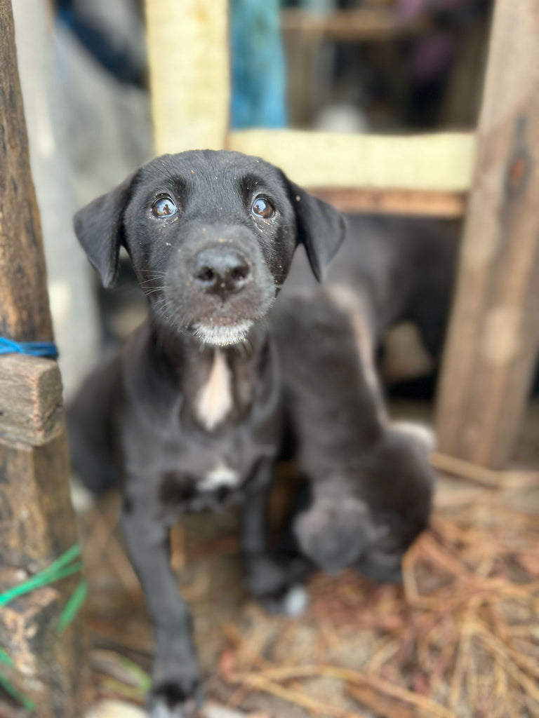
[[273,310],[287,444],[310,488],[293,530],[303,554],[328,572],[354,565],[398,581],[402,554],[428,523],[433,446],[422,426],[387,418],[374,367],[375,315],[363,289],[292,288]]

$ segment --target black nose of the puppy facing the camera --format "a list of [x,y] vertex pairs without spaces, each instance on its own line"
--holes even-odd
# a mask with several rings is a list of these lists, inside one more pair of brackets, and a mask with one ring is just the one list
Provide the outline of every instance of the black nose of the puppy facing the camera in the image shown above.
[[208,294],[234,294],[249,281],[249,264],[232,248],[208,247],[195,256],[193,279]]

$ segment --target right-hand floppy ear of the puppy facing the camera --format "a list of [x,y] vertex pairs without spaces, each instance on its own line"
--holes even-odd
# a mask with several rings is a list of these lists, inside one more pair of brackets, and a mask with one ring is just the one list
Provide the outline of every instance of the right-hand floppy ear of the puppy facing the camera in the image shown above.
[[287,180],[298,226],[298,242],[305,246],[313,274],[322,281],[326,267],[346,234],[344,215]]

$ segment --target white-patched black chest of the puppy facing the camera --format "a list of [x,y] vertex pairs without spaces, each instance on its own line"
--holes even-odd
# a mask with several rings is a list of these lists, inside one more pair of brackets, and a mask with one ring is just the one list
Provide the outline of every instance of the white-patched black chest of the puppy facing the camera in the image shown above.
[[136,424],[129,441],[128,475],[152,477],[166,515],[233,503],[260,457],[277,451],[280,394],[272,374],[221,350],[203,360],[184,375],[183,396],[165,395],[164,408],[144,421],[144,433]]

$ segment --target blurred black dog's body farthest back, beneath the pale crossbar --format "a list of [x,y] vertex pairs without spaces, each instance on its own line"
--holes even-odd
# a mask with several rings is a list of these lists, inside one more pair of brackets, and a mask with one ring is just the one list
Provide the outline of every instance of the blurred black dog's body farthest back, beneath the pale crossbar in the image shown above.
[[[365,339],[374,350],[390,327],[411,322],[438,363],[453,296],[457,238],[433,220],[410,217],[362,215],[347,218],[347,225],[324,286],[345,286],[356,296],[368,325]],[[316,286],[301,251],[285,294],[297,286]]]

